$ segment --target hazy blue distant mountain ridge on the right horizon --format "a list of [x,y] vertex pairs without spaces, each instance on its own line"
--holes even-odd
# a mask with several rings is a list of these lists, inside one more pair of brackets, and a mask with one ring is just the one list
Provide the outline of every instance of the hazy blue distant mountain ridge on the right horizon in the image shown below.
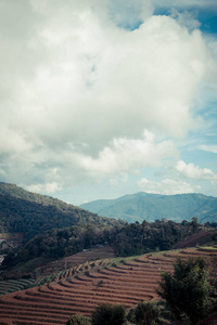
[[169,219],[180,222],[196,217],[201,223],[217,222],[217,197],[203,194],[159,195],[144,192],[117,199],[99,199],[80,205],[103,217],[128,222]]

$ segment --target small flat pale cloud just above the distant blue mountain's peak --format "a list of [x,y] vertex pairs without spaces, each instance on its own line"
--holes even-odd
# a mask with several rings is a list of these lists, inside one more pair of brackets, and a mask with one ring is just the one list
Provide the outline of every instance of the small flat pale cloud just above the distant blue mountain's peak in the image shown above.
[[181,193],[193,193],[194,190],[190,184],[183,181],[175,181],[171,179],[164,179],[161,182],[149,181],[143,178],[138,182],[141,191],[146,193],[156,193],[163,195],[175,195]]

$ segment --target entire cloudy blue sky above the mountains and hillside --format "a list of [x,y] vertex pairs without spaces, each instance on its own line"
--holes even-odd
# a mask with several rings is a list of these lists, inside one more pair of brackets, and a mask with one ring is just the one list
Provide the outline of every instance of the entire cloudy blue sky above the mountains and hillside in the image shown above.
[[0,0],[0,181],[217,196],[216,0]]

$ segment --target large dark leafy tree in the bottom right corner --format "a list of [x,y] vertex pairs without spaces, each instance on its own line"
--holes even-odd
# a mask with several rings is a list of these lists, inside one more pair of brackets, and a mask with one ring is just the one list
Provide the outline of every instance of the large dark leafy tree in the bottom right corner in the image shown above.
[[178,260],[174,275],[162,273],[158,295],[171,308],[177,318],[188,317],[192,324],[213,312],[216,299],[214,286],[203,259]]

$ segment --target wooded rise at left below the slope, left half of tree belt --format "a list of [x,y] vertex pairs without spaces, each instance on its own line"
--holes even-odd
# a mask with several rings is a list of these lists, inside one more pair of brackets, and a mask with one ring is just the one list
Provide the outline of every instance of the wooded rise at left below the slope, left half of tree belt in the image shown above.
[[16,255],[9,253],[2,262],[2,268],[12,268],[39,257],[62,258],[94,247],[97,244],[103,245],[108,240],[111,231],[110,227],[95,223],[80,223],[71,227],[47,231],[35,236]]

